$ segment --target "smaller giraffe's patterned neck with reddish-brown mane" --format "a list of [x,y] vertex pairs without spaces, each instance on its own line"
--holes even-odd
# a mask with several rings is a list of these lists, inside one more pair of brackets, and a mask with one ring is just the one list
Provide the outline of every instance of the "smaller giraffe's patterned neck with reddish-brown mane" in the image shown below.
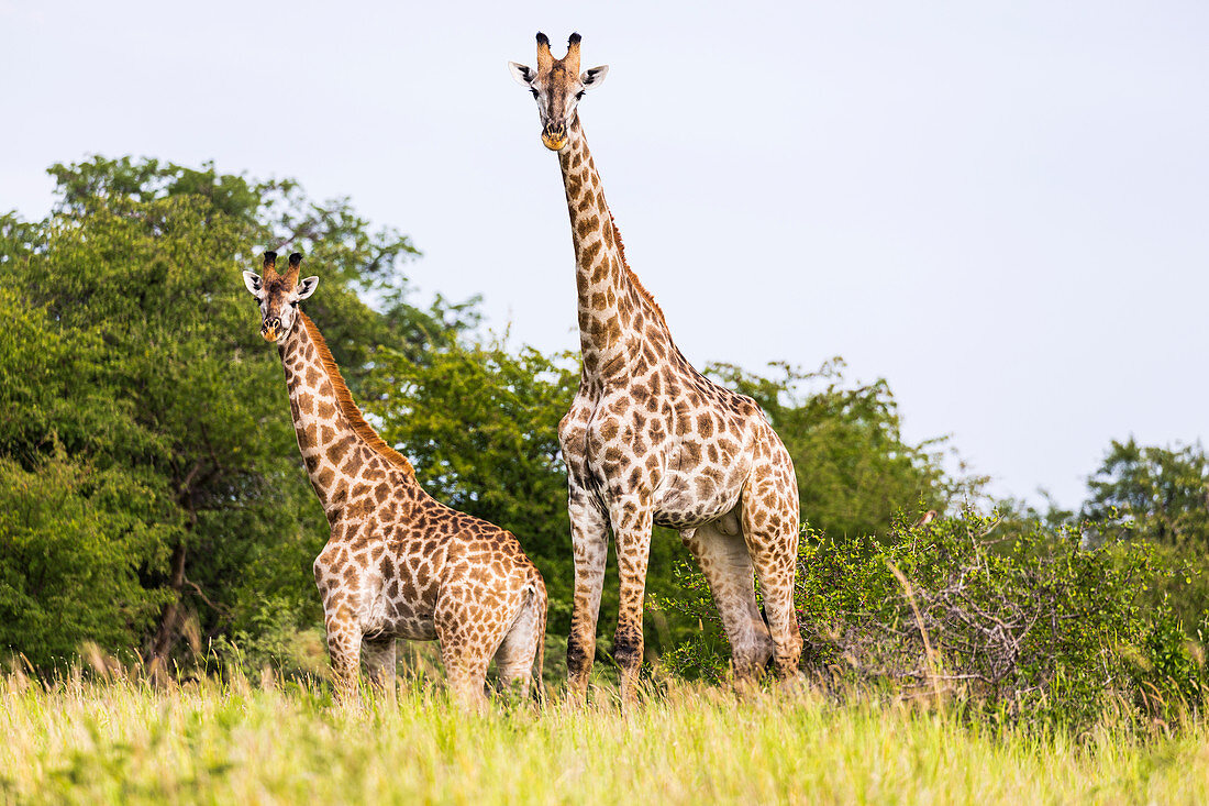
[[358,484],[418,485],[411,464],[365,422],[308,316],[299,312],[278,352],[299,450],[329,523],[345,511]]

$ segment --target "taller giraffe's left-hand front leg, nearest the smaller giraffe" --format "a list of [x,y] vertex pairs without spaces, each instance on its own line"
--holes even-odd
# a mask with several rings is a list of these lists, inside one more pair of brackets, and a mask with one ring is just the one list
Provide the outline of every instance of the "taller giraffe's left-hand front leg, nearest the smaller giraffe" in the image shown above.
[[596,621],[600,618],[604,560],[608,558],[608,523],[574,480],[571,482],[567,511],[575,560],[575,598],[571,611],[571,633],[567,635],[567,684],[569,698],[583,704],[588,700],[588,679],[596,656]]

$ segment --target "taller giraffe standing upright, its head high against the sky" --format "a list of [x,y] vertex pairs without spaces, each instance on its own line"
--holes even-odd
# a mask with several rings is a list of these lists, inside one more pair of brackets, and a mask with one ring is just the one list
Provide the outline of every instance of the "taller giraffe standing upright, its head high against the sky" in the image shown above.
[[579,41],[572,34],[567,54],[556,59],[539,33],[537,70],[509,63],[537,99],[542,142],[559,152],[575,251],[583,375],[559,424],[575,560],[572,693],[586,695],[612,529],[621,599],[613,655],[623,698],[632,698],[654,524],[678,529],[705,572],[735,673],[753,675],[773,657],[782,677],[797,675],[793,461],[754,401],[713,384],[681,355],[659,305],[626,265],[577,110],[608,68],[580,75]]

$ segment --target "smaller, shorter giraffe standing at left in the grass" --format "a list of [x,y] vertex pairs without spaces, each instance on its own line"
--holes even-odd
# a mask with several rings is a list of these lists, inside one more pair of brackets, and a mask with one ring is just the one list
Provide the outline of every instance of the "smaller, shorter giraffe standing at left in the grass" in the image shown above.
[[[510,532],[429,496],[411,464],[361,416],[328,345],[300,301],[302,255],[278,275],[243,272],[260,304],[260,333],[277,342],[294,433],[331,536],[314,560],[328,651],[341,702],[358,700],[359,658],[394,697],[395,639],[439,640],[450,690],[481,707],[492,658],[504,685],[528,690],[545,637],[545,583]],[[534,669],[534,662],[537,668]]]

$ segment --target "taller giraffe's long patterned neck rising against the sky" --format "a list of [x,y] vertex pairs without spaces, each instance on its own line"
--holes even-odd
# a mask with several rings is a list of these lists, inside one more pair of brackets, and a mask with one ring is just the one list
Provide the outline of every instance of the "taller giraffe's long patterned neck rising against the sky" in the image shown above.
[[[670,335],[659,306],[625,264],[621,238],[604,202],[604,186],[578,114],[567,134],[559,166],[575,247],[579,347],[586,376],[609,376],[624,372],[629,355],[641,349],[643,339],[670,340]],[[648,326],[654,332],[648,333]]]

